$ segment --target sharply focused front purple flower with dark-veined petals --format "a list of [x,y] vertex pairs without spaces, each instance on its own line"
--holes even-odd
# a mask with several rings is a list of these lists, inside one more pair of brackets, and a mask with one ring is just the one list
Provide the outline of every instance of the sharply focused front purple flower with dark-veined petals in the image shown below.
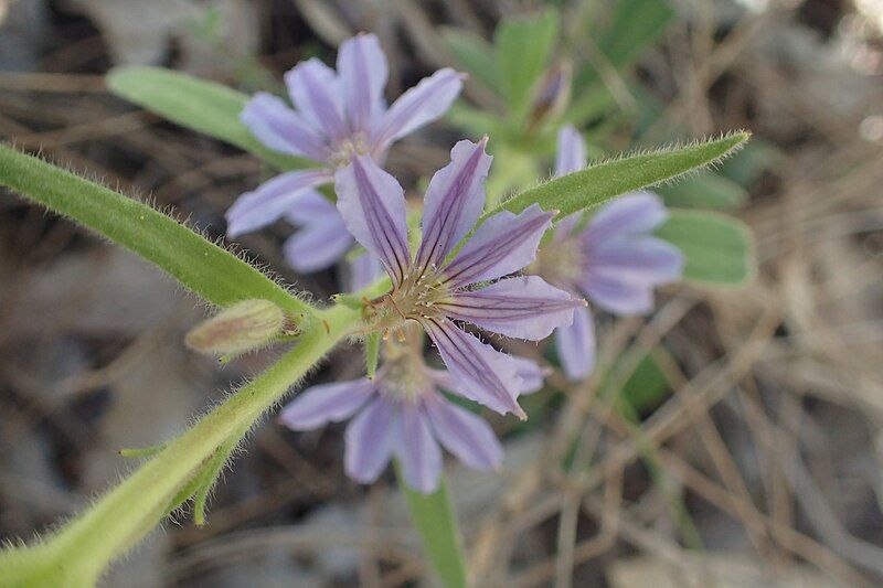
[[[525,418],[515,400],[521,387],[509,355],[482,343],[454,321],[467,321],[507,336],[540,340],[573,320],[585,301],[536,276],[512,277],[530,264],[556,214],[533,205],[521,214],[501,212],[481,224],[462,247],[485,206],[491,158],[479,143],[458,142],[451,161],[435,173],[424,199],[423,240],[412,258],[404,191],[366,156],[336,174],[338,210],[365,249],[392,279],[390,293],[373,302],[369,329],[423,325],[457,382],[457,391],[493,410]],[[454,255],[453,255],[454,254]],[[448,259],[453,256],[453,259]]]

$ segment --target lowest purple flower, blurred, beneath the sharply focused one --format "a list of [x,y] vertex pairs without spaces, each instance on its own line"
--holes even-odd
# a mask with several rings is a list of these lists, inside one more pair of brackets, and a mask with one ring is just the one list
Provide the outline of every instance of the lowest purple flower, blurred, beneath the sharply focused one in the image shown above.
[[[518,362],[525,385],[533,386],[538,378],[542,384],[536,364],[523,357]],[[419,349],[391,341],[373,381],[312,386],[283,409],[279,420],[294,430],[309,430],[358,413],[347,426],[347,474],[371,483],[395,457],[407,484],[428,493],[438,488],[439,443],[477,470],[499,468],[502,460],[502,447],[490,426],[451,403],[439,387],[455,391],[447,372],[427,367]]]

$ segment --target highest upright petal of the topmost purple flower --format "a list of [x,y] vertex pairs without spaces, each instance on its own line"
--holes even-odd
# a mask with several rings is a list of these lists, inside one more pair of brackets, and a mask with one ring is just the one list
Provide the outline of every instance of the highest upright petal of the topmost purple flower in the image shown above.
[[350,130],[371,131],[383,110],[386,56],[373,34],[348,39],[338,51],[338,73],[350,118]]

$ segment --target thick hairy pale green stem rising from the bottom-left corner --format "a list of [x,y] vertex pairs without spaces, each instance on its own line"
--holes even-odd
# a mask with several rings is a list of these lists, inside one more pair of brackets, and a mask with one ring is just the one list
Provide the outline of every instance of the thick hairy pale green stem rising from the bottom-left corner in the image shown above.
[[343,306],[321,311],[300,342],[273,367],[170,442],[83,514],[34,547],[0,554],[0,577],[18,586],[93,585],[107,565],[159,524],[194,474],[242,435],[359,324]]

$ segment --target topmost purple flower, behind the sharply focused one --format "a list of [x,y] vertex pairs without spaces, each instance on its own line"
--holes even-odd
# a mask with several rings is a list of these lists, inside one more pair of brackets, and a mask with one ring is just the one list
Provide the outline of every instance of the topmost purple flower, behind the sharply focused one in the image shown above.
[[226,214],[231,237],[283,216],[300,226],[285,250],[291,267],[304,272],[329,267],[352,245],[333,206],[320,210],[321,195],[315,189],[331,183],[334,171],[353,153],[382,162],[394,141],[440,117],[462,87],[461,74],[439,70],[387,108],[386,57],[373,34],[344,41],[337,65],[334,72],[311,58],[285,75],[296,110],[281,98],[258,93],[241,116],[268,148],[321,164],[273,178],[240,196]]

